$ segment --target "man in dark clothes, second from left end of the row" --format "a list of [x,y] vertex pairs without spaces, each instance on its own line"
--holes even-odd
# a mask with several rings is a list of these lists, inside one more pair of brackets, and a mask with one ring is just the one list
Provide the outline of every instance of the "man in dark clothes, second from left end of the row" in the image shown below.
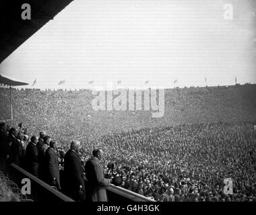
[[8,144],[11,147],[11,163],[15,163],[15,165],[20,165],[17,135],[18,129],[11,128],[9,130]]

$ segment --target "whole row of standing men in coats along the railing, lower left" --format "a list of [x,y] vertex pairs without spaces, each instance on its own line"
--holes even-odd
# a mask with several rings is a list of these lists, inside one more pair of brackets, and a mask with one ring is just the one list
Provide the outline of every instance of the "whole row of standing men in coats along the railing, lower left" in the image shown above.
[[[18,130],[11,128],[7,132],[7,124],[0,123],[0,170],[7,171],[9,163],[15,163],[38,177],[45,183],[56,187],[75,201],[106,202],[106,186],[111,179],[105,179],[100,164],[102,150],[94,149],[92,158],[86,162],[85,173],[79,157],[80,142],[73,140],[70,149],[64,156],[63,174],[60,177],[58,144],[51,140],[45,132],[39,138],[32,136],[28,144],[24,144],[22,155]],[[26,145],[26,146],[25,146]],[[22,160],[22,162],[20,162]],[[62,170],[61,170],[62,171]],[[63,183],[61,183],[63,181]]]

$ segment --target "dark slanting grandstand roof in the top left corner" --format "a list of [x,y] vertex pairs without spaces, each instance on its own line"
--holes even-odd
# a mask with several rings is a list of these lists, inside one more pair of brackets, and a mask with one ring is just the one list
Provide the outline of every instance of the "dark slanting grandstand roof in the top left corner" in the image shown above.
[[[1,0],[0,63],[73,0]],[[31,19],[22,19],[22,5],[31,7]]]

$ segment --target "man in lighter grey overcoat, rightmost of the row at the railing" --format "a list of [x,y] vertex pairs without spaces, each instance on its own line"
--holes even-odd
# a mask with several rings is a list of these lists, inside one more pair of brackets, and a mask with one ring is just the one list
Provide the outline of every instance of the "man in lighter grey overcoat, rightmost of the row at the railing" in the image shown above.
[[103,174],[100,159],[102,157],[102,150],[94,149],[92,151],[92,159],[86,162],[86,185],[88,194],[88,201],[92,202],[107,202],[106,186],[110,184],[111,179],[105,179]]

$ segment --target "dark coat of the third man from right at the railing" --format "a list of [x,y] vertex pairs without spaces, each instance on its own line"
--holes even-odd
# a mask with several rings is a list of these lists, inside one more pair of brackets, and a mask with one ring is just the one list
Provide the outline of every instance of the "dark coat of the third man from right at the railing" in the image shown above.
[[[47,148],[44,153],[45,180],[49,185],[55,185],[60,189],[59,181],[59,158],[55,150],[51,147]],[[56,178],[56,184],[53,184],[53,179]]]

